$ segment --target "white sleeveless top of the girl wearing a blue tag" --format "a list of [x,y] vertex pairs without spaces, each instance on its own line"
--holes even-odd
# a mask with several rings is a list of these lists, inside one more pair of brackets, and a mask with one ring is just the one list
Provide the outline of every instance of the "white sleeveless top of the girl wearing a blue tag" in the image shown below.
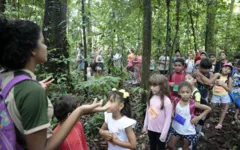
[[176,106],[176,113],[181,115],[186,119],[184,125],[173,120],[172,127],[173,129],[181,135],[194,135],[196,134],[195,126],[191,123],[191,114],[190,114],[190,104],[187,106],[181,106],[180,103]]

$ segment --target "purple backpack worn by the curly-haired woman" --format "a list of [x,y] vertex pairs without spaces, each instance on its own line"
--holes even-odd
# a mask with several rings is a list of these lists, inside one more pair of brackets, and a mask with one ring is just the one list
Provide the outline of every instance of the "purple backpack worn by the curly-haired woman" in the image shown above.
[[[10,90],[14,87],[14,85],[25,81],[32,80],[30,77],[25,75],[19,75],[14,77],[4,89],[1,90],[0,94],[0,149],[2,150],[22,150],[23,148],[16,142],[16,132],[14,122],[7,110],[7,106],[5,104],[5,99],[10,92]],[[0,85],[2,82],[0,80]]]

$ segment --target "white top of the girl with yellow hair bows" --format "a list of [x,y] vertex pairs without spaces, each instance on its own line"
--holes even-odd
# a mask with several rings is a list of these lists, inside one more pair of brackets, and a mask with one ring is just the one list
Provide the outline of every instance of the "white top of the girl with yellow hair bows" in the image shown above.
[[[112,113],[107,113],[107,112],[104,113],[104,117],[105,117],[105,122],[108,126],[108,130],[110,132],[113,132],[113,134],[118,137],[118,140],[122,142],[127,142],[128,137],[125,129],[130,126],[134,128],[136,125],[136,120],[130,119],[126,116],[123,116],[121,119],[114,120],[112,118]],[[114,146],[110,142],[108,142],[108,150],[129,150],[129,149],[122,148],[117,145]]]

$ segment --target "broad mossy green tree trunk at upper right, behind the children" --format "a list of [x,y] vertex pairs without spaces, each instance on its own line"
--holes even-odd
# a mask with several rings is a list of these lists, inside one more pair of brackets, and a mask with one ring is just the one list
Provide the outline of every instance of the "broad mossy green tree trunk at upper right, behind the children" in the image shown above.
[[207,0],[207,21],[206,21],[206,38],[205,38],[205,50],[207,53],[215,52],[215,16],[217,10],[216,0]]

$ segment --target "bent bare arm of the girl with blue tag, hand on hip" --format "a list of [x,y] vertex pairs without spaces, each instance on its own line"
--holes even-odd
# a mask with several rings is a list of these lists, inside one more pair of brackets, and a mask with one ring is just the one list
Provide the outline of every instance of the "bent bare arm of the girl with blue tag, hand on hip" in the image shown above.
[[206,116],[210,111],[211,108],[207,105],[195,103],[195,108],[199,108],[201,110],[204,110],[199,116],[195,116],[192,120],[192,124],[197,124],[199,120],[201,120],[204,116]]

